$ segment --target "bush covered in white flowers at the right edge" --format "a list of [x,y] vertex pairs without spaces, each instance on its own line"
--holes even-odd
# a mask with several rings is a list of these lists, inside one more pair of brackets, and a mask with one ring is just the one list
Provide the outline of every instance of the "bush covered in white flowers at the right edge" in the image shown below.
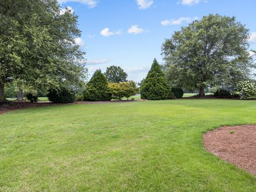
[[256,98],[256,83],[249,81],[239,82],[236,87],[241,94],[241,99],[255,99]]

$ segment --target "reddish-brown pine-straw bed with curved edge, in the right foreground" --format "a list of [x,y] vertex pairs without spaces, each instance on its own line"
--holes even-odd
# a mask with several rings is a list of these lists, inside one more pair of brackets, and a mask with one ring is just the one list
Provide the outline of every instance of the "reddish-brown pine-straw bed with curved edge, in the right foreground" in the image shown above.
[[203,141],[206,150],[256,175],[256,125],[220,127],[204,134]]

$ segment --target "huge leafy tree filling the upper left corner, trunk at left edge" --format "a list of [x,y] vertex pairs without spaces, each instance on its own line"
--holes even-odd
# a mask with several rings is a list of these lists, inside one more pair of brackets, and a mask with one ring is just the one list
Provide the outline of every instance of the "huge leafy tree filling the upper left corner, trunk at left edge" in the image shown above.
[[86,74],[77,16],[56,0],[0,1],[0,102],[6,83],[35,87],[77,84]]

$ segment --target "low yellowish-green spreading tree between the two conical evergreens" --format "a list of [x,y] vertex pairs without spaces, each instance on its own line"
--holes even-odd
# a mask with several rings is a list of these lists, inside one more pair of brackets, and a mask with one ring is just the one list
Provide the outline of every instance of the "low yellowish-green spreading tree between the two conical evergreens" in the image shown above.
[[109,83],[108,87],[113,98],[118,98],[119,100],[121,100],[122,97],[126,97],[128,100],[129,97],[135,95],[139,90],[134,81]]

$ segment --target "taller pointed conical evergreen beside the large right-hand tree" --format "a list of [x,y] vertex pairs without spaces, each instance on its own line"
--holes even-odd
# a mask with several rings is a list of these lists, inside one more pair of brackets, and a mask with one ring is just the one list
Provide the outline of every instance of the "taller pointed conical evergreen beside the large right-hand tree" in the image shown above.
[[141,99],[169,99],[170,92],[171,87],[164,76],[161,66],[154,59],[151,69],[140,87]]

